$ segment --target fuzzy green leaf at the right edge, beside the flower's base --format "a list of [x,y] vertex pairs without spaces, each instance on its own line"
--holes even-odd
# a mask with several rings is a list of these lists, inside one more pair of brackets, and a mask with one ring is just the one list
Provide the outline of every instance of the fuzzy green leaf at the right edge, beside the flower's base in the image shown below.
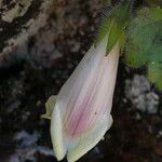
[[140,10],[129,26],[126,39],[127,64],[148,66],[148,78],[162,87],[162,9]]

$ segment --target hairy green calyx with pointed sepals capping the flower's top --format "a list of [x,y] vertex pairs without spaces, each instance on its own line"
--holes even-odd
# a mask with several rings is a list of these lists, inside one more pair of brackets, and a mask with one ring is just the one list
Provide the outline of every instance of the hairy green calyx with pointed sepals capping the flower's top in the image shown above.
[[100,42],[105,36],[108,36],[107,53],[119,42],[121,45],[125,43],[124,28],[129,24],[129,2],[125,0],[114,6],[112,11],[104,17],[98,33],[95,38],[95,44]]

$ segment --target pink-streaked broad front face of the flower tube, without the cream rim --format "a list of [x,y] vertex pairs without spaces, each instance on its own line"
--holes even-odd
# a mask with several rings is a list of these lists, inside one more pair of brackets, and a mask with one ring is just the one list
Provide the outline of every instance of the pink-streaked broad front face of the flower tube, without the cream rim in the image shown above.
[[91,84],[85,81],[76,100],[72,100],[75,96],[69,100],[63,118],[66,135],[77,137],[110,114],[119,60],[118,49],[113,49],[103,59]]

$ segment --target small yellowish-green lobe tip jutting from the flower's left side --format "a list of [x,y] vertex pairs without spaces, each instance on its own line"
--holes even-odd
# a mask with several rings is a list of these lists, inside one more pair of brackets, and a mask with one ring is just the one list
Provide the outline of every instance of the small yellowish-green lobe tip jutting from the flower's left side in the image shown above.
[[48,102],[45,103],[46,113],[42,114],[41,118],[51,120],[55,103],[56,103],[56,96],[54,95],[50,96]]

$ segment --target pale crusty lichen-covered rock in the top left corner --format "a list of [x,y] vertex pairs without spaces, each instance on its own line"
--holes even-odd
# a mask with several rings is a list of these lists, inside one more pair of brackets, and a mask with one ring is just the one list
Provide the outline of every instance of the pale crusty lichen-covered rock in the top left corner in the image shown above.
[[5,10],[4,4],[3,9],[2,3],[0,4],[0,13],[2,13],[0,16],[0,58],[33,36],[45,25],[53,12],[54,0],[18,0],[14,2],[16,4],[12,8],[9,4],[5,5]]

